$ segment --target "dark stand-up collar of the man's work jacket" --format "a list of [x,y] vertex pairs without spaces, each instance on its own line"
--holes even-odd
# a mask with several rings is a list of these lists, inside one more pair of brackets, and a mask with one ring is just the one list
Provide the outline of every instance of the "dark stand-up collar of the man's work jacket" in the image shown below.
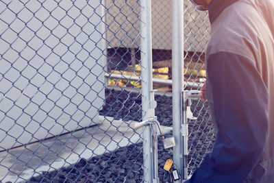
[[208,15],[210,17],[210,23],[212,24],[215,19],[227,8],[238,0],[212,0],[208,5]]

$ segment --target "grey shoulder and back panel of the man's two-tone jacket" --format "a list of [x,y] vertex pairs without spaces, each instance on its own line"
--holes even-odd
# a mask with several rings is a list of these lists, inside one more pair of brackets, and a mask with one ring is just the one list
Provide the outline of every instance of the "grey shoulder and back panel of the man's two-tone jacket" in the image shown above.
[[[219,51],[226,51],[245,57],[253,62],[269,91],[269,137],[262,158],[251,171],[248,179],[260,178],[263,174],[270,175],[274,173],[273,17],[274,1],[240,0],[230,5],[212,23],[212,39],[208,45],[208,56]],[[252,107],[250,106],[250,108]],[[274,175],[272,176],[274,178]],[[273,180],[271,179],[271,181]],[[260,181],[268,182],[262,179]],[[251,182],[256,182],[256,180]]]

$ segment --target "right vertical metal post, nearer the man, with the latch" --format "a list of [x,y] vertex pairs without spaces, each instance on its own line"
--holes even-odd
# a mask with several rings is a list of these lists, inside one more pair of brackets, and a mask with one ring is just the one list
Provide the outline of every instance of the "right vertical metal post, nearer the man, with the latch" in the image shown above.
[[[184,66],[184,1],[172,0],[172,102],[173,102],[173,162],[183,175],[182,169],[182,89]],[[184,176],[183,178],[184,179]],[[179,180],[176,182],[180,182]]]

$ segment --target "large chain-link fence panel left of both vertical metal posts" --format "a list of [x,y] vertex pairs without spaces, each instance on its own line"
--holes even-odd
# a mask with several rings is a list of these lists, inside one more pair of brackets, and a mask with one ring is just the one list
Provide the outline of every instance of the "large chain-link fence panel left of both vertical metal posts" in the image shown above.
[[138,14],[138,1],[0,2],[0,182],[142,182],[140,80],[105,79],[140,75]]

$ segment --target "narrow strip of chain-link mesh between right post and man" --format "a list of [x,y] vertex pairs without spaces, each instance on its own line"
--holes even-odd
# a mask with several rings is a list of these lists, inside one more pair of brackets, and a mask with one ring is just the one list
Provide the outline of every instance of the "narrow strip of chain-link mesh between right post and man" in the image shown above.
[[[190,1],[184,2],[184,80],[185,90],[197,89],[206,82],[206,44],[210,38],[208,12],[197,10]],[[197,120],[188,119],[188,175],[201,164],[214,144],[214,126],[208,101],[192,101],[190,106]]]

